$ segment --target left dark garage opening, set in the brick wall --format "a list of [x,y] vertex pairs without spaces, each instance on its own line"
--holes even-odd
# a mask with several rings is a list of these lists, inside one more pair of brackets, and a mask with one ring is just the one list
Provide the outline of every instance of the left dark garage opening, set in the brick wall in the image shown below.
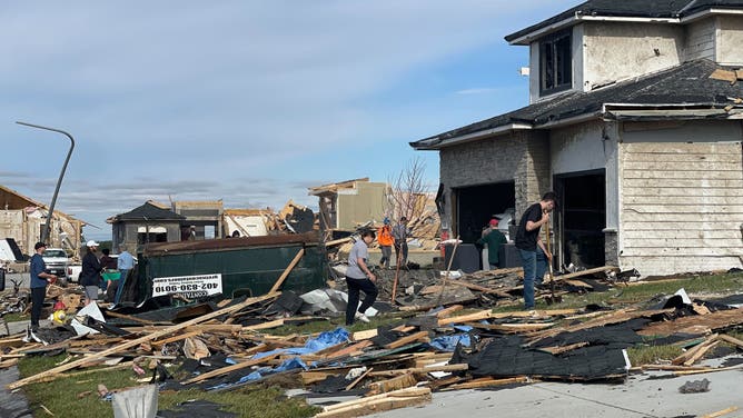
[[498,229],[508,231],[516,206],[516,189],[513,181],[456,189],[456,231],[466,243],[479,239],[483,228],[493,216],[504,218]]

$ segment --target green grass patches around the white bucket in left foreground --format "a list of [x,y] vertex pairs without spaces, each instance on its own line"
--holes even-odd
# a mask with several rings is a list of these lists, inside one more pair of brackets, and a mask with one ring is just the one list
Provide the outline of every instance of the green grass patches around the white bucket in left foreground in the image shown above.
[[[66,358],[29,357],[19,362],[22,377],[50,369]],[[98,385],[109,390],[142,385],[136,381],[131,370],[106,370],[99,372],[58,379],[52,382],[32,384],[23,388],[34,416],[47,414],[43,405],[56,416],[65,417],[112,417],[110,401],[98,395]],[[318,409],[303,400],[288,399],[278,387],[251,385],[229,391],[206,392],[198,389],[164,391],[158,396],[159,409],[174,409],[179,402],[191,399],[209,400],[224,406],[224,410],[238,414],[239,417],[311,417]],[[187,408],[187,407],[186,407]]]

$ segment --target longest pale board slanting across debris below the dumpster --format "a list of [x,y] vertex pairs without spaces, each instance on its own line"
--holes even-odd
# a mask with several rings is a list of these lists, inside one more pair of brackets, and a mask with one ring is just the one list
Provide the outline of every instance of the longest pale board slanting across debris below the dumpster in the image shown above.
[[143,336],[143,337],[140,337],[140,338],[137,338],[137,339],[133,339],[133,340],[130,340],[130,341],[127,341],[127,342],[122,342],[118,346],[115,346],[115,347],[111,347],[107,350],[100,351],[100,352],[98,352],[93,356],[86,357],[83,359],[79,359],[79,360],[76,360],[76,361],[71,361],[71,362],[68,362],[66,365],[55,367],[53,369],[46,370],[46,371],[42,371],[40,374],[37,374],[37,375],[33,375],[33,376],[29,376],[27,378],[17,380],[17,381],[8,385],[8,388],[11,389],[11,390],[12,389],[18,389],[18,388],[20,388],[22,386],[26,386],[28,384],[38,381],[42,376],[56,375],[56,374],[60,374],[60,372],[66,371],[66,370],[73,369],[73,368],[76,368],[80,365],[89,362],[90,360],[95,360],[97,358],[101,358],[101,357],[106,357],[106,356],[109,356],[109,355],[112,355],[112,354],[116,354],[116,352],[119,352],[119,351],[123,351],[123,350],[126,350],[128,348],[131,348],[131,347],[137,347],[142,342],[148,342],[148,341],[158,339],[160,337],[165,337],[167,335],[179,331],[179,330],[185,329],[187,327],[190,327],[192,325],[197,325],[197,324],[207,321],[211,318],[217,318],[217,317],[226,315],[226,314],[236,312],[236,311],[238,311],[242,308],[249,307],[250,305],[258,303],[258,302],[261,302],[264,300],[273,299],[276,296],[278,296],[278,292],[277,293],[268,293],[268,295],[264,295],[264,296],[259,296],[259,297],[255,297],[255,298],[248,298],[240,303],[236,303],[236,305],[232,305],[230,307],[227,307],[227,308],[224,308],[224,309],[216,310],[214,312],[204,315],[201,317],[194,318],[194,319],[187,320],[187,321],[178,324],[178,325],[174,325],[172,327],[168,327],[164,330],[152,332],[150,335],[147,335],[147,336]]

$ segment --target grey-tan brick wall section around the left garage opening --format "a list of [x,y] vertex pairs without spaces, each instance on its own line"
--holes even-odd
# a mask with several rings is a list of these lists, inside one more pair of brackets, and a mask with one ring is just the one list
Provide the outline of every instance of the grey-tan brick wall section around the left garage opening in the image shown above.
[[516,217],[551,188],[549,140],[542,131],[515,131],[508,136],[465,142],[439,151],[440,181],[445,186],[446,215],[454,223],[452,189],[514,181]]

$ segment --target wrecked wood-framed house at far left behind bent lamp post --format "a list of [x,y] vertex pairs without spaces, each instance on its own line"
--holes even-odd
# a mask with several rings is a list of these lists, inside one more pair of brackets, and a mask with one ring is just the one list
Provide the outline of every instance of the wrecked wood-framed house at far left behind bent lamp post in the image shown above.
[[[0,186],[0,239],[12,239],[22,253],[33,253],[33,245],[41,240],[48,213],[46,205]],[[55,210],[53,218],[47,243],[77,255],[86,222],[59,210]]]

